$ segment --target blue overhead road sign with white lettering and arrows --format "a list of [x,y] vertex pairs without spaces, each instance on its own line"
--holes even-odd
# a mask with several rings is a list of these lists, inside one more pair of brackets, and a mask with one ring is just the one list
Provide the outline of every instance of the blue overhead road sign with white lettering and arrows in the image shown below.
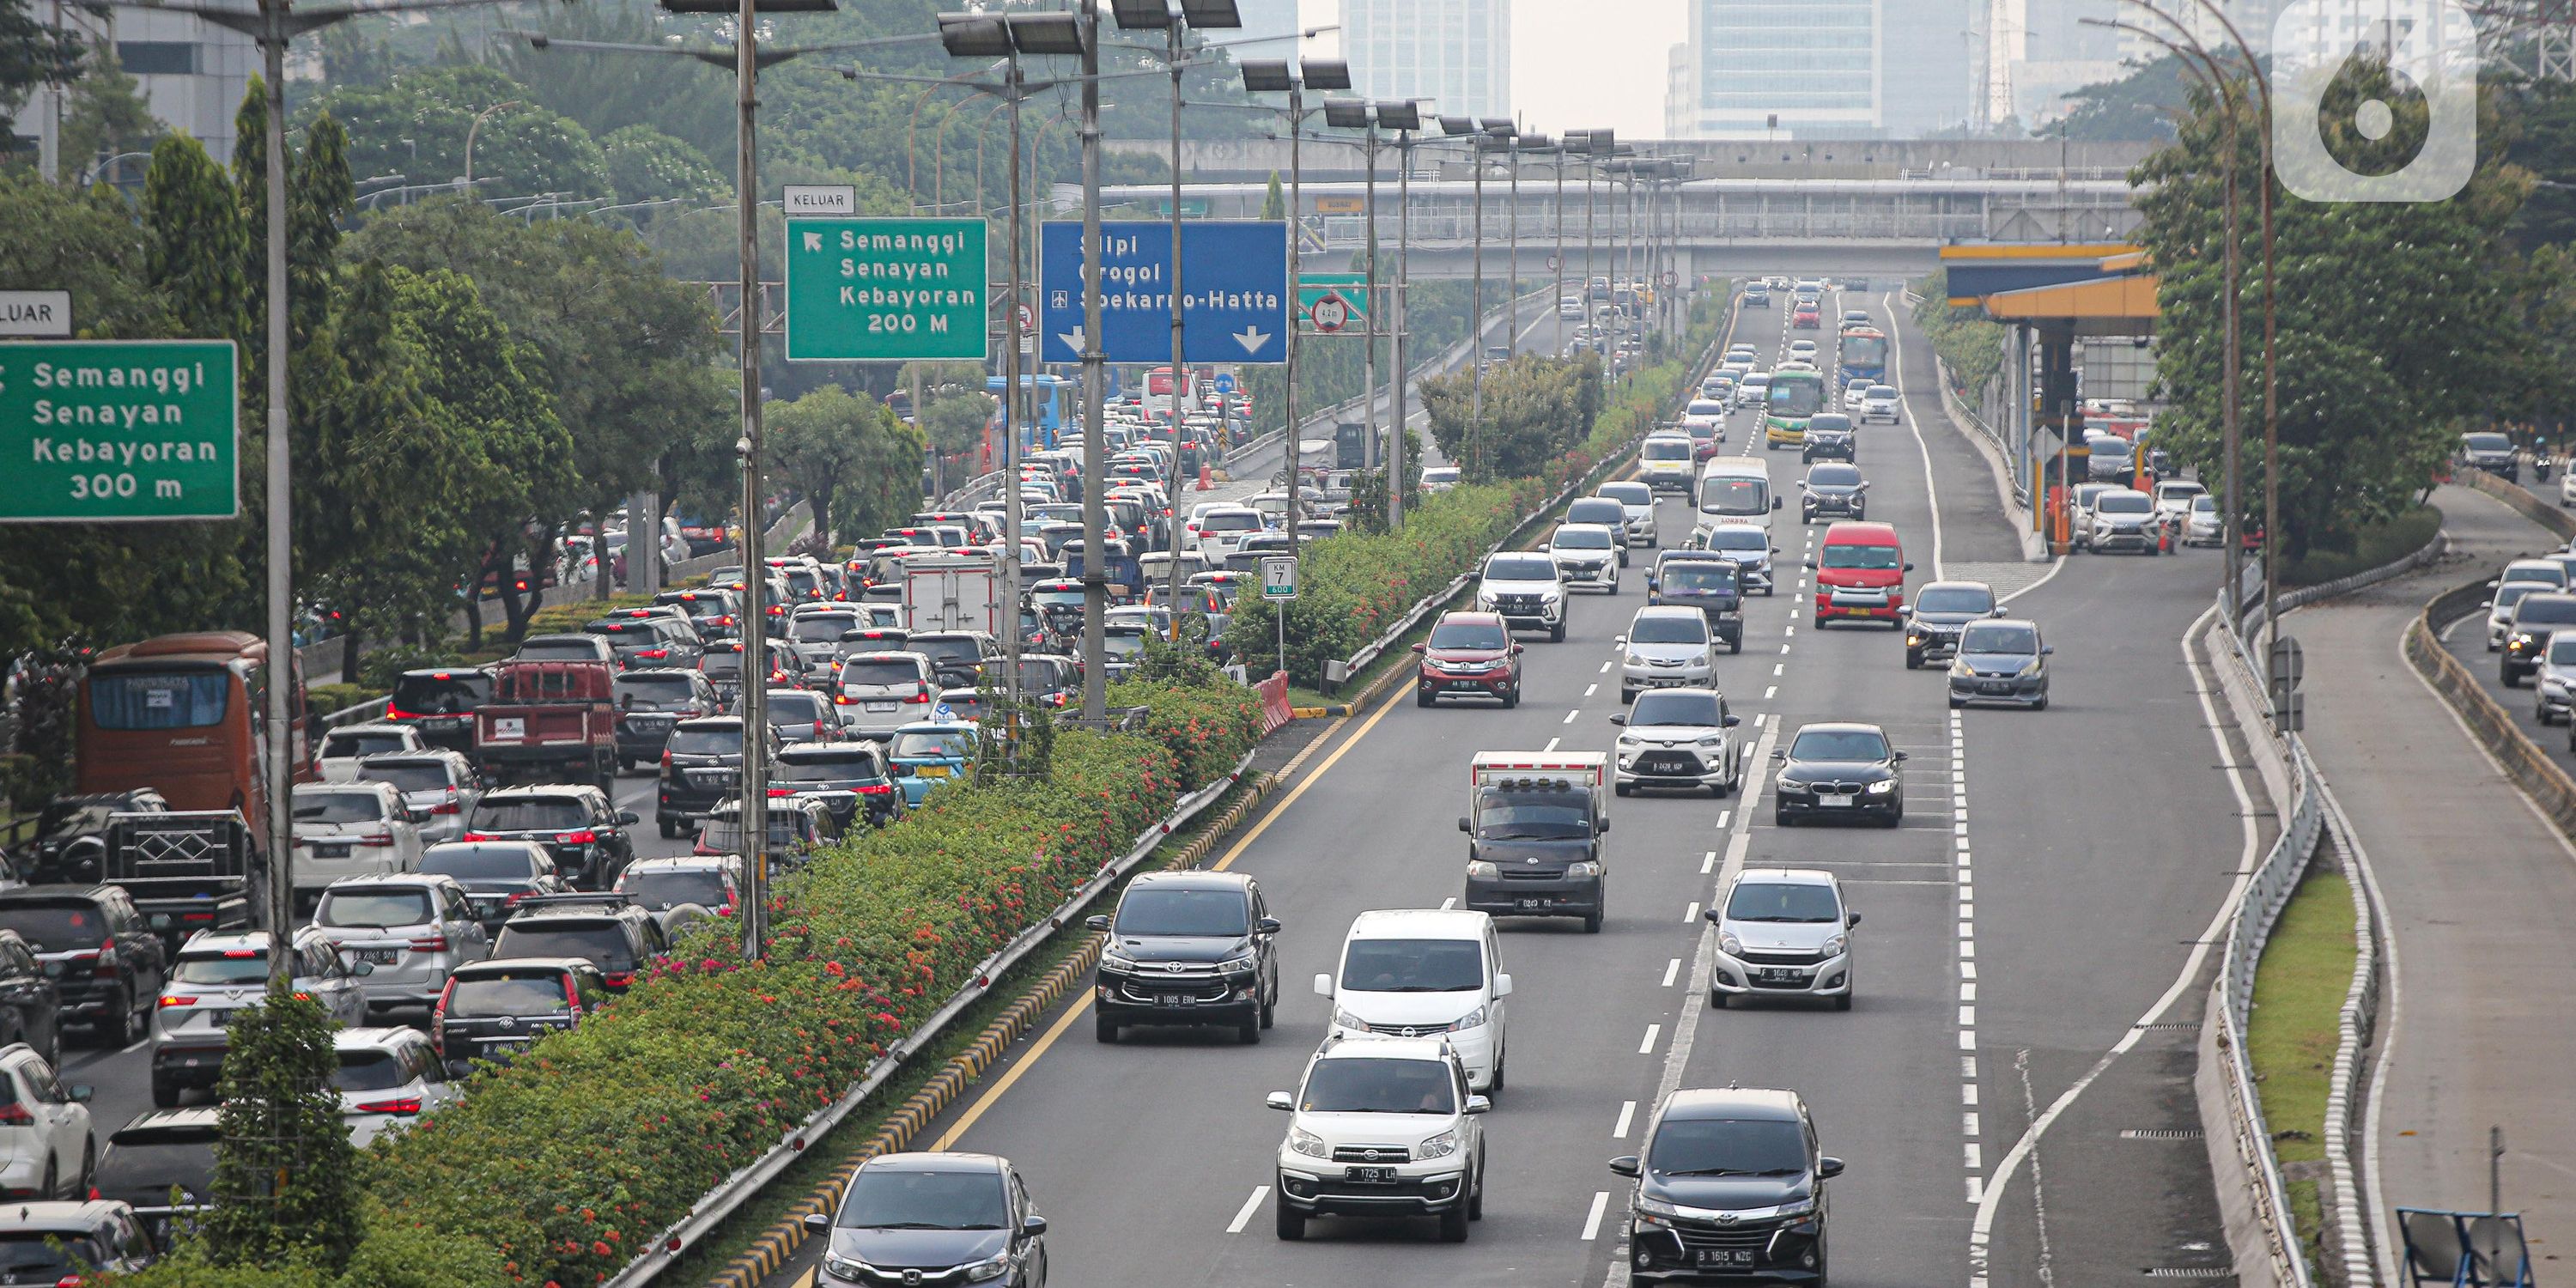
[[[1043,229],[1038,361],[1082,361],[1082,224]],[[1180,355],[1190,363],[1288,361],[1288,224],[1180,224]],[[1172,224],[1100,224],[1100,348],[1113,363],[1172,361]]]

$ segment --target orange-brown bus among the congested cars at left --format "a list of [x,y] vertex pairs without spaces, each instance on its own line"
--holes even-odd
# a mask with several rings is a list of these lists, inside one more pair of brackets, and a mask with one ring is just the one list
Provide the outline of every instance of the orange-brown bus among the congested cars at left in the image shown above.
[[[312,775],[304,667],[289,667],[296,778]],[[196,631],[118,644],[80,685],[75,791],[155,788],[170,809],[237,809],[258,832],[268,817],[268,641],[250,631]]]

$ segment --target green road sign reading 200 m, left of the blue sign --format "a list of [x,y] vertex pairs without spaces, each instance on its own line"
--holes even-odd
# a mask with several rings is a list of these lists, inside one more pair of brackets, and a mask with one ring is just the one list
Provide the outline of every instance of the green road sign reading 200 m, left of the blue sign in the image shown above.
[[788,361],[981,363],[981,219],[788,219]]

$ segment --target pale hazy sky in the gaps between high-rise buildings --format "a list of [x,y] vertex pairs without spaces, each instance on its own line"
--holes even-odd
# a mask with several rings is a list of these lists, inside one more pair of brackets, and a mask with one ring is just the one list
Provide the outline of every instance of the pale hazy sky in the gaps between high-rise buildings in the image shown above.
[[[1543,134],[1607,126],[1664,134],[1664,52],[1687,31],[1685,0],[1510,0],[1512,111]],[[1306,26],[1342,18],[1340,0],[1298,0]],[[1334,36],[1314,54],[1329,57]],[[1275,57],[1275,54],[1273,54]]]

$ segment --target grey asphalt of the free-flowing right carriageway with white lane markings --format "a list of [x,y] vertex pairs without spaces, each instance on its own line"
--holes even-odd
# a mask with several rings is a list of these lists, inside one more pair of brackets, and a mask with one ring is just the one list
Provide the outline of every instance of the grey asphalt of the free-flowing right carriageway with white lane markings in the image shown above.
[[[1865,304],[1883,317],[1891,301]],[[1783,325],[1785,309],[1752,312],[1744,335],[1785,348]],[[1564,644],[1530,644],[1517,711],[1383,703],[1319,744],[1301,781],[1213,858],[1257,876],[1285,922],[1288,989],[1262,1046],[1177,1030],[1100,1046],[1082,994],[922,1146],[1012,1157],[1066,1285],[1607,1288],[1625,1280],[1628,1188],[1605,1159],[1638,1149],[1672,1087],[1772,1084],[1806,1095],[1824,1149],[1850,1162],[1834,1182],[1837,1283],[2107,1283],[2226,1265],[2200,1144],[2120,1136],[2197,1128],[2169,1051],[2094,1074],[2133,1025],[2174,1018],[2161,999],[2192,992],[2177,976],[2205,966],[2197,940],[2249,858],[2244,806],[2213,768],[2228,757],[2177,644],[2218,564],[2105,556],[2050,574],[2014,562],[1984,464],[1947,425],[1919,420],[1940,415],[1929,355],[1919,332],[1901,337],[1919,399],[1904,425],[1862,430],[1870,515],[1899,526],[1917,580],[1984,574],[2017,592],[2012,608],[2056,644],[2053,706],[1950,714],[1940,672],[1904,670],[1888,631],[1808,626],[1795,572],[1808,533],[1780,520],[1788,585],[1752,600],[1744,652],[1721,659],[1721,688],[1757,739],[1752,788],[1618,801],[1600,935],[1504,922],[1510,1090],[1486,1121],[1486,1218],[1466,1247],[1437,1244],[1427,1224],[1350,1221],[1278,1242],[1267,1185],[1283,1123],[1262,1092],[1296,1087],[1321,1041],[1327,1002],[1303,981],[1332,966],[1350,920],[1461,894],[1450,819],[1476,750],[1610,750],[1610,639],[1641,605],[1636,567],[1618,598],[1574,605]],[[1749,420],[1734,417],[1726,451],[1759,451]],[[1770,461],[1775,479],[1798,477],[1795,459]],[[1687,533],[1687,507],[1664,502],[1659,526]],[[1911,752],[1904,827],[1772,827],[1765,757],[1821,719],[1878,721]],[[1705,1007],[1700,909],[1747,863],[1850,884],[1868,917],[1852,1012]],[[2079,1084],[1989,1198],[2035,1110]],[[775,1283],[811,1283],[814,1257],[809,1242]]]

